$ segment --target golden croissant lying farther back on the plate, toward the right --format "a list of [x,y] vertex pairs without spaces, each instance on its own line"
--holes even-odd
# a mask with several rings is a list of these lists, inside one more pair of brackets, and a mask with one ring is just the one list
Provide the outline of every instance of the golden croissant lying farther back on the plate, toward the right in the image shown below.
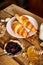
[[15,14],[16,19],[27,29],[37,32],[36,28],[32,25],[32,23],[29,21],[29,19],[26,16],[20,16],[18,14]]

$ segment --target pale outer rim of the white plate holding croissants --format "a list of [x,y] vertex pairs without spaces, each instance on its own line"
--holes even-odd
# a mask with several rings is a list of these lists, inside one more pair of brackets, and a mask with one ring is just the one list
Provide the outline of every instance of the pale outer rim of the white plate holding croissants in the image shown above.
[[[30,17],[30,18],[32,18],[32,19],[34,19],[35,21],[36,21],[36,24],[37,24],[37,20],[35,19],[35,18],[33,18],[32,16],[29,16],[29,15],[22,15],[22,16],[27,16],[27,17]],[[14,17],[12,17],[8,22],[7,22],[7,25],[6,25],[6,29],[7,29],[7,32],[11,35],[11,36],[13,36],[13,37],[16,37],[16,38],[25,38],[25,37],[22,37],[22,36],[20,36],[20,35],[18,35],[18,34],[14,34],[14,32],[13,32],[13,30],[12,30],[12,28],[11,28],[11,23],[13,22],[13,20],[15,20],[15,16]],[[9,24],[10,23],[10,24]],[[11,32],[9,32],[9,27],[10,26],[10,29],[12,30],[12,32],[13,32],[13,34],[11,34]],[[37,26],[38,26],[38,24],[37,24]],[[38,28],[38,27],[37,27]],[[11,31],[10,30],[10,31]],[[35,33],[33,33],[32,35],[34,35]],[[32,35],[30,35],[30,36],[32,36]]]

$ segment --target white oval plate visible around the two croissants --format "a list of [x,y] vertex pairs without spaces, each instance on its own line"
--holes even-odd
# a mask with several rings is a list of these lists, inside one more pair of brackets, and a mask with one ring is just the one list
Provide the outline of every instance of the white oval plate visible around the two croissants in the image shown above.
[[[36,21],[33,17],[28,16],[28,15],[23,15],[23,16],[28,17],[29,20],[33,23],[33,25],[35,24],[35,28],[36,28],[36,29],[38,28],[37,21]],[[12,25],[12,22],[13,22],[14,20],[15,20],[15,17],[12,17],[12,18],[10,19],[10,21],[8,21],[8,23],[7,23],[7,25],[6,25],[7,32],[8,32],[11,36],[13,36],[13,37],[16,37],[16,38],[24,38],[24,37],[22,37],[22,36],[20,36],[20,35],[18,35],[18,34],[15,34],[14,31],[12,30],[11,25]],[[36,26],[37,26],[37,27],[36,27]],[[33,32],[31,31],[29,34],[30,34],[30,36],[32,36],[32,35],[34,35],[35,33],[33,33]]]

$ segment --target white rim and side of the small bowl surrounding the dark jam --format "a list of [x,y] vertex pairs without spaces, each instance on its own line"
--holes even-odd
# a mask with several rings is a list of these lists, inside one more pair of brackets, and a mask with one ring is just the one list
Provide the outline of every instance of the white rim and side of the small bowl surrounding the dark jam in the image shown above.
[[[17,53],[15,53],[14,55],[12,54],[12,53],[8,53],[7,51],[6,51],[6,46],[7,46],[7,44],[8,44],[8,42],[17,42],[20,46],[21,46],[21,48],[22,48],[22,50],[21,51],[19,51],[19,52],[17,52]],[[18,41],[18,40],[10,40],[10,41],[8,41],[6,44],[5,44],[5,46],[4,46],[4,53],[6,53],[7,55],[9,55],[9,56],[11,56],[11,57],[17,57],[18,55],[20,55],[21,53],[22,53],[22,51],[24,50],[24,47],[23,47],[23,45]]]

